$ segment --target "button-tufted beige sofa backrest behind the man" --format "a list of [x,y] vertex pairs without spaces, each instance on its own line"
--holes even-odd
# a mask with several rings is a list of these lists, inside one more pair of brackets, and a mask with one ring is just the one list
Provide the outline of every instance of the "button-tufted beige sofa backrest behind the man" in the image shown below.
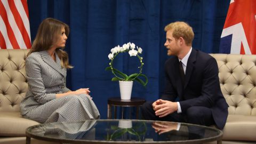
[[256,55],[211,54],[218,63],[228,113],[256,116]]

